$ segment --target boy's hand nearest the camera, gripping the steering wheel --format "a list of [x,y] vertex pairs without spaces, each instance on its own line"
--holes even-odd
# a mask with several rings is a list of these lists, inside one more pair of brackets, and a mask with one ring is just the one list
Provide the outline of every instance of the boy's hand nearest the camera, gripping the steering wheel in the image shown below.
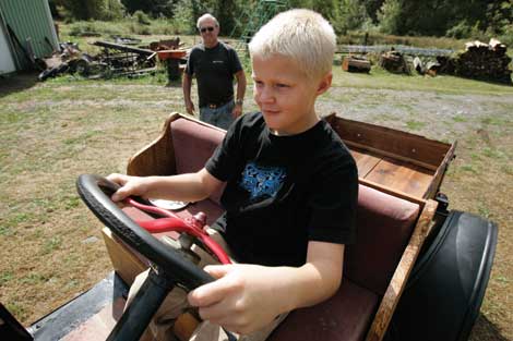
[[[207,266],[205,271],[218,280],[189,293],[204,320],[229,331],[247,334],[288,312],[279,269],[258,265]],[[283,283],[283,282],[282,282]]]

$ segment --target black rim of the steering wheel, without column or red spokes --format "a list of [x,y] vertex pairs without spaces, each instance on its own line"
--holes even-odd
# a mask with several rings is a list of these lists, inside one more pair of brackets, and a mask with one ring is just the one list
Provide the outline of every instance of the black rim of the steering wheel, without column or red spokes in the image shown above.
[[116,236],[155,264],[160,276],[175,280],[187,290],[214,281],[212,276],[159,242],[127,216],[110,199],[118,188],[118,184],[95,174],[82,174],[76,181],[79,195],[93,214]]

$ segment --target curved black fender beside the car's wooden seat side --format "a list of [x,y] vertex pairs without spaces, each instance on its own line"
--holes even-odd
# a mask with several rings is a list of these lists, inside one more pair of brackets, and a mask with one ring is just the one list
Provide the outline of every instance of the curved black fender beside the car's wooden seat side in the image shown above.
[[385,340],[467,340],[490,278],[497,233],[489,220],[451,211],[411,270]]

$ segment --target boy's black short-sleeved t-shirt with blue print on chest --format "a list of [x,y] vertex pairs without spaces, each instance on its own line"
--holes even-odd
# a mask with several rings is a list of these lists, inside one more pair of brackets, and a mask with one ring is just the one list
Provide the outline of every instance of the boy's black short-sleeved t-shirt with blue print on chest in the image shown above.
[[355,241],[358,171],[323,120],[291,136],[271,133],[260,112],[237,119],[205,166],[227,185],[213,226],[237,260],[301,266],[309,241]]

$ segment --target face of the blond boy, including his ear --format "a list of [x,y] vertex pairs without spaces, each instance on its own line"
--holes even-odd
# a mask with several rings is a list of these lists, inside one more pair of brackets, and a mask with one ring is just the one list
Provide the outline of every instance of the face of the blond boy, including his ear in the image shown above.
[[307,131],[318,121],[315,98],[327,90],[331,73],[321,80],[308,77],[289,57],[253,56],[253,98],[270,130],[277,135]]

